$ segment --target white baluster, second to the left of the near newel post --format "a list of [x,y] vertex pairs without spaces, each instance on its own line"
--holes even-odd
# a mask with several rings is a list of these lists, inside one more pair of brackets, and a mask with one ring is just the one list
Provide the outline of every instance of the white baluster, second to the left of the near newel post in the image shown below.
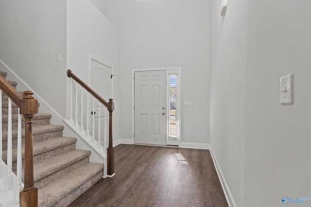
[[7,140],[7,158],[6,164],[7,169],[7,180],[6,190],[10,191],[13,189],[13,175],[12,175],[12,100],[8,98],[8,140]]

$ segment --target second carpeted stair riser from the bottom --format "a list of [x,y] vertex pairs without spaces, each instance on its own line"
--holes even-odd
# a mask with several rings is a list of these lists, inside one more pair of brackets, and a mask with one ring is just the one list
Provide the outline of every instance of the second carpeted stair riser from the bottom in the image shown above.
[[53,173],[52,175],[48,175],[40,180],[35,181],[35,187],[37,188],[41,188],[47,184],[49,184],[50,182],[52,182],[53,180],[58,179],[59,177],[68,174],[69,172],[71,172],[74,169],[77,169],[78,167],[86,164],[87,162],[89,162],[89,157],[86,157],[84,159],[80,159],[79,161]]

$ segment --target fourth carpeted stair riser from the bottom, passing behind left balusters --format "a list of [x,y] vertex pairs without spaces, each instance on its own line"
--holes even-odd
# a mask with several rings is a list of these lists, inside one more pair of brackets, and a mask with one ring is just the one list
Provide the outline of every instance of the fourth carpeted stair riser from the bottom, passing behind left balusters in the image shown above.
[[[22,130],[24,130],[22,128]],[[51,140],[55,137],[62,137],[63,136],[63,130],[58,130],[58,131],[52,131],[52,132],[47,132],[47,133],[42,133],[42,134],[35,134],[33,135],[33,143],[39,143],[42,141],[46,140]],[[22,146],[24,147],[25,143],[25,136],[22,134]],[[12,136],[12,146],[13,148],[17,147],[17,135]],[[3,140],[2,140],[2,150],[7,149],[7,135],[3,135]]]

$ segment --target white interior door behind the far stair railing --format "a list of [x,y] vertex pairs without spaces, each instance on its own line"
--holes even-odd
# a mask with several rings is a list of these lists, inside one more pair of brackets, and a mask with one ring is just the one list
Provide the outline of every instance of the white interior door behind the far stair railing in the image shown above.
[[[104,63],[97,60],[91,59],[90,68],[90,87],[100,96],[102,96],[107,102],[109,98],[112,98],[112,68]],[[109,112],[106,110],[103,104],[99,104],[97,99],[94,99],[94,111],[93,111],[93,100],[90,100],[90,134],[93,134],[94,125],[94,135],[95,139],[104,140],[104,123],[106,121],[106,129],[109,129]],[[94,113],[95,112],[95,113]],[[94,116],[94,123],[93,117]],[[100,120],[100,126],[99,126]],[[99,135],[99,127],[101,127],[101,133]],[[106,130],[106,136],[109,130]],[[104,144],[102,144],[104,145]]]

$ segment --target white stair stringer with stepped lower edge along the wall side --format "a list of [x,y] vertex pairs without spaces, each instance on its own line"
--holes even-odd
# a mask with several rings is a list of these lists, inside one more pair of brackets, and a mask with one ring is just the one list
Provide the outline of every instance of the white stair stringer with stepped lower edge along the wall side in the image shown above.
[[[18,89],[21,91],[31,90],[35,93],[35,90],[30,88],[21,78],[19,78],[6,64],[3,63],[2,60],[0,60],[0,71],[5,71],[8,73],[8,76],[10,77],[10,80],[17,81],[18,82]],[[66,74],[65,74],[66,75]],[[38,100],[40,103],[40,111],[49,111],[49,113],[52,114],[51,118],[51,125],[59,125],[60,123],[65,123],[64,130],[63,130],[63,136],[66,137],[76,137],[77,143],[76,143],[76,149],[82,149],[82,150],[90,150],[91,155],[89,156],[90,162],[97,162],[97,163],[104,163],[104,178],[107,175],[107,169],[106,169],[106,159],[104,158],[104,152],[100,152],[98,150],[95,150],[89,143],[85,141],[85,138],[81,136],[77,131],[73,130],[67,122],[65,122],[64,118],[57,113],[46,101],[44,101],[40,96],[38,96],[36,93],[33,95],[35,99]],[[104,153],[104,154],[103,154]]]

